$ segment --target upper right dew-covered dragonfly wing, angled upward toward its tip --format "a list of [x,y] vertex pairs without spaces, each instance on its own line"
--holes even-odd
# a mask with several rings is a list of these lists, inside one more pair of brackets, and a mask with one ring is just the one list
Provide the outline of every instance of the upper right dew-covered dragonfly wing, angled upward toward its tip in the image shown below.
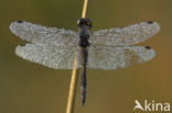
[[160,31],[157,22],[141,22],[123,29],[114,27],[94,32],[92,44],[128,46],[146,41]]

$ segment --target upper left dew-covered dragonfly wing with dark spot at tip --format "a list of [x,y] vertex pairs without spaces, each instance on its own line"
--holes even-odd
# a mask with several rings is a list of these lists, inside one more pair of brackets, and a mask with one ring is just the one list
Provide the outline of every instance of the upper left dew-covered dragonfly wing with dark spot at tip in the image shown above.
[[22,39],[46,45],[75,45],[78,44],[78,35],[76,32],[64,29],[46,27],[32,24],[25,21],[13,22],[10,30]]

